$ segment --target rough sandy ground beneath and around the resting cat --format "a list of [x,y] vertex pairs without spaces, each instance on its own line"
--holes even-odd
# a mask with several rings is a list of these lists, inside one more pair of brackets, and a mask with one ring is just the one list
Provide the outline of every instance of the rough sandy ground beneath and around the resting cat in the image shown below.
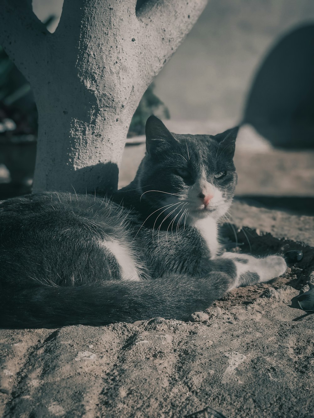
[[[278,196],[286,179],[290,196],[312,197],[306,182],[313,176],[304,173],[312,170],[313,154],[302,159],[259,144],[250,155],[237,155],[239,186],[246,191],[239,196],[263,187]],[[143,145],[126,149],[121,182],[144,152]],[[268,185],[260,174],[267,173],[266,163],[273,163]],[[293,184],[298,170],[299,187]],[[221,228],[229,250],[266,255],[300,249],[303,259],[281,278],[236,289],[187,322],[1,330],[0,415],[205,417],[210,413],[197,412],[210,406],[226,418],[313,418],[313,315],[292,307],[291,299],[307,290],[307,280],[314,282],[314,218],[300,208],[288,213],[241,200],[230,213],[232,226]]]

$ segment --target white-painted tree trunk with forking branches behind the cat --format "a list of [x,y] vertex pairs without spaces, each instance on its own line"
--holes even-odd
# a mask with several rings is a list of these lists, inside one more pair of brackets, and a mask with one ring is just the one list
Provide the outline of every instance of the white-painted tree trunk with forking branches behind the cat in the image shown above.
[[0,44],[39,113],[33,191],[117,187],[131,117],[207,0],[64,0],[49,33],[31,0],[3,0]]

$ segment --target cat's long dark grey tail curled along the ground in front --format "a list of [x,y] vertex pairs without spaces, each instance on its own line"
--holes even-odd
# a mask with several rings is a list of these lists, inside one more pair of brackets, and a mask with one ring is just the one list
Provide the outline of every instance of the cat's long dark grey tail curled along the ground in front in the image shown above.
[[211,273],[206,279],[178,275],[140,282],[115,280],[81,286],[0,288],[0,327],[99,326],[156,316],[185,320],[221,297],[228,282],[224,273]]

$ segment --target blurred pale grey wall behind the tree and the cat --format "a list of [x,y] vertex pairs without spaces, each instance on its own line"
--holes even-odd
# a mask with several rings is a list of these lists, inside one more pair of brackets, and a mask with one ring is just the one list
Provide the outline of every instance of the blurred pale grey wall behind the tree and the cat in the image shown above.
[[[41,20],[56,20],[63,0],[33,0]],[[174,119],[242,118],[263,58],[283,36],[314,23],[313,0],[209,0],[187,38],[155,80]]]

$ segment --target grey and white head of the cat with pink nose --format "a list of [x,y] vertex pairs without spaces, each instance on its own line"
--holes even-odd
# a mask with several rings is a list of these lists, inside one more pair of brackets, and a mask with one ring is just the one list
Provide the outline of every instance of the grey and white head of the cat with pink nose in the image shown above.
[[237,184],[233,163],[237,131],[178,135],[157,117],[149,117],[147,153],[137,173],[141,201],[172,213],[171,219],[177,214],[187,214],[190,220],[221,217]]

